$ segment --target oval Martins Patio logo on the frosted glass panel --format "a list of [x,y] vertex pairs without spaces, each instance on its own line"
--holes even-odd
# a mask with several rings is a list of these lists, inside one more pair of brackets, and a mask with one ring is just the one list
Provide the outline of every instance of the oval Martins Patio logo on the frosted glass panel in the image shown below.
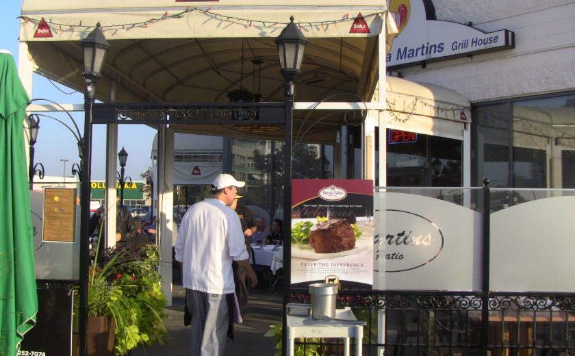
[[[383,240],[382,240],[383,238]],[[385,272],[403,272],[429,264],[442,252],[442,231],[418,214],[385,211],[385,236],[374,239],[376,259],[385,259]]]

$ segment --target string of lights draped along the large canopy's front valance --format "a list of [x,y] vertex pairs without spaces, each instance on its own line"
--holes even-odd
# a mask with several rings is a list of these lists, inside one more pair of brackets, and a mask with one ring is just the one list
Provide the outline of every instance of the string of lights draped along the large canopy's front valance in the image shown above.
[[[278,25],[281,25],[281,27],[284,27],[285,25],[288,25],[287,22],[285,23],[278,23],[278,22],[270,22],[270,21],[262,21],[262,20],[254,20],[251,18],[240,18],[240,17],[234,17],[234,16],[227,16],[227,15],[222,15],[222,14],[218,14],[217,12],[212,12],[212,8],[207,8],[207,10],[203,10],[201,8],[194,8],[191,6],[186,7],[186,10],[183,10],[181,12],[177,12],[175,14],[168,14],[168,12],[164,12],[163,16],[161,18],[149,18],[149,20],[146,21],[142,21],[142,22],[138,22],[138,23],[122,23],[122,24],[115,24],[115,25],[103,25],[100,26],[101,29],[125,29],[125,27],[129,27],[129,28],[133,28],[133,27],[148,27],[149,24],[151,23],[157,23],[159,21],[165,21],[171,18],[183,18],[183,15],[188,14],[190,12],[201,12],[203,14],[212,16],[214,18],[219,18],[221,21],[232,21],[238,24],[242,24],[242,23],[248,23],[249,27],[252,27],[252,24],[259,24],[261,23],[261,27],[267,29],[268,27],[277,27]],[[363,18],[369,18],[372,16],[381,16],[382,12],[373,12],[371,14],[367,14],[367,15],[363,15]],[[40,23],[41,19],[38,18],[32,18],[30,16],[18,16],[20,18],[22,18],[23,21],[33,21],[36,23]],[[342,22],[346,22],[346,21],[354,21],[355,17],[349,18],[349,13],[344,14],[343,18],[337,19],[337,20],[332,20],[332,21],[314,21],[314,22],[309,22],[309,23],[298,23],[298,27],[303,29],[305,27],[309,27],[311,29],[313,29],[313,27],[319,28],[322,27],[324,29],[324,31],[327,31],[328,27],[330,24],[335,24],[335,23],[342,23]],[[49,23],[51,23],[51,25],[58,25],[60,27],[62,26],[67,26],[70,27],[71,29],[76,29],[77,27],[83,27],[82,26],[82,21],[80,20],[79,25],[71,25],[68,23],[53,23],[52,19],[50,19]],[[270,25],[271,24],[271,25]],[[90,30],[95,28],[95,26],[86,26],[86,30]]]

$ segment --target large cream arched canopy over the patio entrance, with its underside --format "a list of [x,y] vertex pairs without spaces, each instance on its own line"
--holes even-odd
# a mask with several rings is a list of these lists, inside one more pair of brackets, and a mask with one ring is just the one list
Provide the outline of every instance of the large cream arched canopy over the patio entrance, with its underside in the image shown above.
[[[292,15],[309,39],[295,83],[296,101],[369,101],[379,58],[385,58],[377,37],[387,21],[385,1],[150,0],[134,6],[112,0],[25,0],[20,39],[27,43],[34,71],[84,92],[80,40],[101,23],[111,46],[96,88],[103,102],[112,102],[112,93],[118,103],[228,102],[229,92],[240,88],[259,101],[278,102],[284,100],[285,81],[274,38]],[[294,112],[294,132],[306,115]],[[345,123],[335,110],[314,112],[308,120],[318,124],[303,138],[307,142],[334,142]],[[264,133],[213,126],[174,129],[284,136],[283,128]]]

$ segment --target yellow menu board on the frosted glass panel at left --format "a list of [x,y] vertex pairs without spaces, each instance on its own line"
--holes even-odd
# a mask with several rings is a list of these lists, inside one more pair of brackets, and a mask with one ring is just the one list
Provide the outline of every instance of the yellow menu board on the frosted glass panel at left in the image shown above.
[[76,189],[44,190],[43,241],[75,242]]

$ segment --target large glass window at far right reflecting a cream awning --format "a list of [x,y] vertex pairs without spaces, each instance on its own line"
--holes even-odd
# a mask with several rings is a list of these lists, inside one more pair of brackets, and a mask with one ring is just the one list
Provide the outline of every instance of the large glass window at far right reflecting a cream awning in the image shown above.
[[575,186],[570,178],[575,171],[570,159],[575,149],[575,94],[477,104],[472,118],[472,184],[481,185],[487,177],[491,187]]

